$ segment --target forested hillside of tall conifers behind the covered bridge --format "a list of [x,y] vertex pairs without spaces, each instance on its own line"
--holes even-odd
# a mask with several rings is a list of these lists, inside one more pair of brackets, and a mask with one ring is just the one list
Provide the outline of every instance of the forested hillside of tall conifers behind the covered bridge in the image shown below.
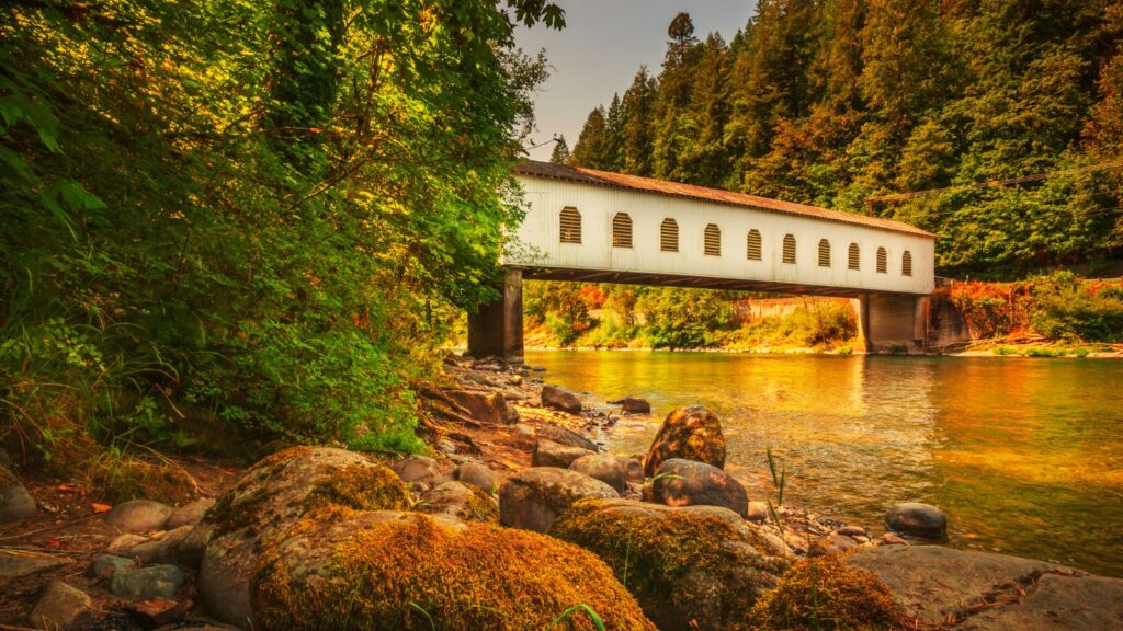
[[907,221],[944,275],[1096,273],[1123,246],[1121,36],[1116,0],[760,0],[730,42],[681,13],[568,161]]

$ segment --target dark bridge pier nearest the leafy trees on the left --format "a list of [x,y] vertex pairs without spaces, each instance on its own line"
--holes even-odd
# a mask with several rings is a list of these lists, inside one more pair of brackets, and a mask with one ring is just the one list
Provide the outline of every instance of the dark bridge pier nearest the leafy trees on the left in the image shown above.
[[502,295],[468,313],[468,356],[522,364],[522,269],[510,269]]

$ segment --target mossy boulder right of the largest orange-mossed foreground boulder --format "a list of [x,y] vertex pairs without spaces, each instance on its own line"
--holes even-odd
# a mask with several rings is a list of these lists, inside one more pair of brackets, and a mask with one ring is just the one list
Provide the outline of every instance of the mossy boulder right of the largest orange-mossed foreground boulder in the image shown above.
[[736,628],[791,556],[775,538],[715,506],[586,500],[549,532],[604,559],[663,631]]

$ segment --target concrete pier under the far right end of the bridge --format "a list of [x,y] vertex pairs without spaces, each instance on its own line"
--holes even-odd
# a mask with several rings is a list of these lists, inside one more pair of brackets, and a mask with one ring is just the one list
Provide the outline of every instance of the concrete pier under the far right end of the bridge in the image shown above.
[[858,299],[858,332],[866,353],[915,353],[928,339],[928,296],[866,294]]

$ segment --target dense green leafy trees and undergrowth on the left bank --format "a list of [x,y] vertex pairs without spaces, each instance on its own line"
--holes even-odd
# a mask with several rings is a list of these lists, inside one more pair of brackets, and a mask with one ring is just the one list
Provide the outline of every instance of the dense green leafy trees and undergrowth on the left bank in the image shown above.
[[522,212],[546,71],[514,28],[563,21],[542,0],[6,2],[8,451],[108,475],[207,432],[418,449],[413,383],[494,295]]

